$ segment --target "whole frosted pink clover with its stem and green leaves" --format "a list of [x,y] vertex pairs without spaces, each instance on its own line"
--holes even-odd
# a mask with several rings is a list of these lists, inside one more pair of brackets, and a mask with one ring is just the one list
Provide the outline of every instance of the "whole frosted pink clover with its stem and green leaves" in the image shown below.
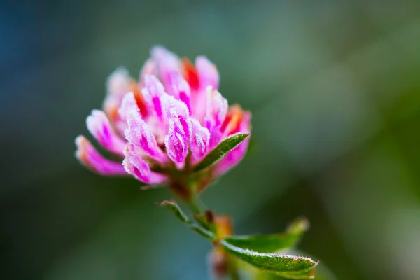
[[296,220],[282,234],[235,236],[230,216],[200,200],[211,181],[244,157],[251,130],[251,113],[228,106],[218,84],[216,66],[206,57],[193,64],[153,48],[138,82],[125,69],[111,74],[103,110],[93,110],[86,119],[90,134],[114,159],[105,158],[83,136],[76,138],[76,158],[99,174],[134,176],[148,185],[143,188],[169,186],[193,218],[175,200],[157,204],[211,241],[209,265],[216,278],[269,274],[312,279],[318,262],[284,254],[307,230],[307,220]]

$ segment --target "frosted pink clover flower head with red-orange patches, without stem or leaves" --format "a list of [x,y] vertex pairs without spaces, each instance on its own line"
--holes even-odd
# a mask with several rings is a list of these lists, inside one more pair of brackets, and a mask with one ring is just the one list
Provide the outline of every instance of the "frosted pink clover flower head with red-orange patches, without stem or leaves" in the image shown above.
[[[125,169],[144,183],[179,183],[226,137],[251,130],[251,113],[228,106],[218,92],[216,66],[206,57],[197,57],[194,65],[155,47],[139,80],[118,69],[108,80],[104,111],[87,117],[99,144],[123,159],[107,160],[78,137],[76,156],[95,172],[116,175]],[[209,167],[207,179],[237,165],[247,147],[248,139]]]

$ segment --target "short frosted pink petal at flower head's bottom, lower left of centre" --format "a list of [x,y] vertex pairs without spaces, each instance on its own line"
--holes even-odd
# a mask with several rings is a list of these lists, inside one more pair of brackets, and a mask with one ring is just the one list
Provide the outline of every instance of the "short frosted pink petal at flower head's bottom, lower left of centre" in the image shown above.
[[166,176],[151,171],[148,163],[137,153],[134,146],[128,144],[123,161],[125,171],[136,179],[148,184],[158,184],[166,181]]

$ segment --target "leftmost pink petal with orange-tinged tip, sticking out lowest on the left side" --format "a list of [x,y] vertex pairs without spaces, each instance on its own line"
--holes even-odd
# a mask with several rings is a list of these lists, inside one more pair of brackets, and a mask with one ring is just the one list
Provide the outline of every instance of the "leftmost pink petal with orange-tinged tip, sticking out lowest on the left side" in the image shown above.
[[76,158],[88,169],[102,175],[127,175],[120,162],[107,160],[82,135],[76,137]]

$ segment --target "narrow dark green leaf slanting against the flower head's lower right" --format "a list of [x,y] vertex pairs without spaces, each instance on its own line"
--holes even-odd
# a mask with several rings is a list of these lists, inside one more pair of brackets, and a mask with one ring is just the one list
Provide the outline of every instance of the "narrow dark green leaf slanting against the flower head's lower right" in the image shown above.
[[229,151],[236,148],[241,141],[244,141],[248,137],[248,133],[237,133],[233,134],[225,140],[221,141],[216,148],[213,149],[201,162],[199,162],[194,168],[194,172],[199,172],[202,169],[206,169],[214,163],[221,160]]

